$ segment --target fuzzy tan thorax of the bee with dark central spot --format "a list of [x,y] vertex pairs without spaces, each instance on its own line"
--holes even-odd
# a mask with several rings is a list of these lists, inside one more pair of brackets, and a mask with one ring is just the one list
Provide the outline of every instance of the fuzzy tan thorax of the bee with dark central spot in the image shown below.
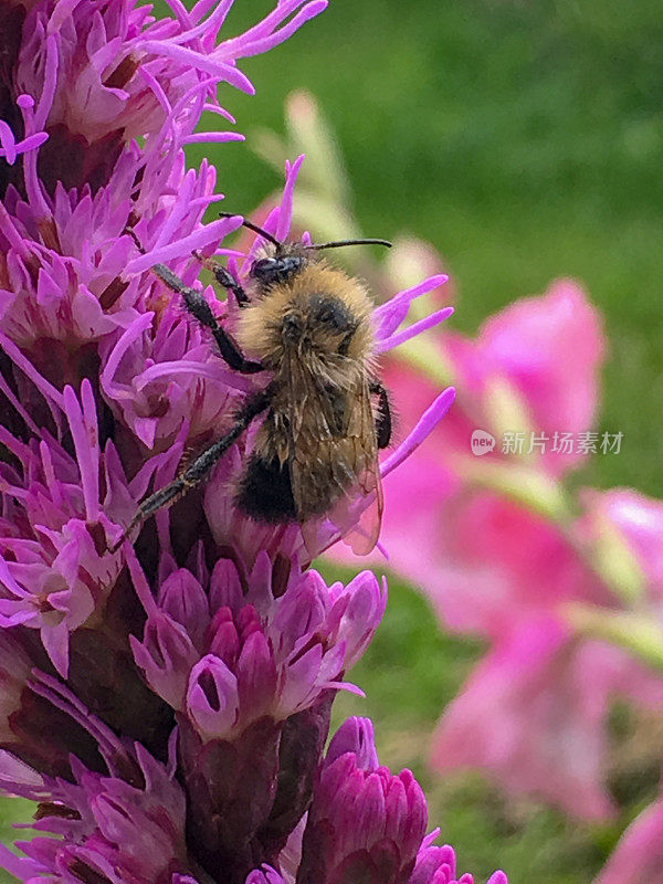
[[[372,303],[367,290],[356,278],[329,266],[324,260],[308,261],[292,280],[275,283],[257,293],[250,306],[241,312],[236,340],[243,350],[267,368],[277,369],[287,347],[284,327],[291,323],[305,327],[314,358],[338,355],[338,336],[316,320],[316,298],[338,304],[344,317],[354,326],[344,356],[367,361],[373,347],[370,325]],[[284,338],[286,343],[284,344]]]

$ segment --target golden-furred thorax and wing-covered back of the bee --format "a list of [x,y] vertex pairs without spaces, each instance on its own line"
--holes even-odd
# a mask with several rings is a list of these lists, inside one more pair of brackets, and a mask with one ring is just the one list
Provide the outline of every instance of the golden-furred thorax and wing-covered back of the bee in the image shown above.
[[[368,292],[358,280],[307,256],[290,278],[256,285],[252,295],[235,339],[273,372],[253,470],[261,465],[269,482],[287,476],[285,496],[292,496],[299,523],[329,514],[352,488],[375,493],[376,518],[361,539],[366,551],[376,541],[380,516]],[[248,506],[266,491],[246,476],[241,487],[240,502]]]

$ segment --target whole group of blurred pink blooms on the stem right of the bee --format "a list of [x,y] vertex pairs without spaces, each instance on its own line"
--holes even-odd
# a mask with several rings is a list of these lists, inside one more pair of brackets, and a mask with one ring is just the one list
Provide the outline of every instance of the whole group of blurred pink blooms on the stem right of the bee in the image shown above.
[[[581,288],[561,281],[490,318],[476,340],[444,329],[436,346],[441,364],[451,366],[456,403],[417,457],[387,477],[381,541],[390,567],[425,591],[444,627],[487,639],[491,648],[444,713],[432,764],[480,767],[507,789],[534,792],[573,815],[607,817],[610,704],[620,695],[663,707],[663,684],[627,651],[576,638],[565,606],[621,610],[586,558],[592,532],[606,520],[656,581],[663,507],[628,492],[588,493],[589,513],[562,524],[544,506],[535,512],[511,497],[508,483],[517,496],[517,471],[526,467],[555,487],[579,455],[526,461],[497,445],[476,459],[470,445],[476,428],[495,436],[507,429],[513,399],[501,399],[505,387],[535,432],[590,430],[604,349],[600,317]],[[407,429],[433,382],[401,362],[390,361],[385,375]],[[504,491],[472,481],[472,471],[486,464],[503,471]]]

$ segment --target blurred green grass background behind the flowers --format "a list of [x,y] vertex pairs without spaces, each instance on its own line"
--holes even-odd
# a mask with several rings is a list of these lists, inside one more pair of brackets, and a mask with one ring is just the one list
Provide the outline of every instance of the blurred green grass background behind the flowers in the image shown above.
[[[236,0],[225,33],[270,8]],[[456,327],[475,330],[555,277],[582,281],[611,341],[601,429],[624,441],[581,480],[654,495],[663,495],[662,45],[660,0],[332,0],[287,44],[242,63],[254,97],[221,92],[250,144],[257,127],[283,131],[290,92],[317,96],[365,233],[433,243],[459,288]],[[192,161],[203,152],[233,210],[250,211],[280,185],[245,146],[194,149]],[[433,778],[431,732],[480,651],[443,636],[425,602],[392,581],[386,620],[352,673],[368,698],[340,698],[337,718],[375,718],[381,759],[414,769],[431,825],[477,882],[496,866],[511,884],[591,882],[653,797],[650,755],[627,746],[623,761],[617,745],[622,812],[608,827],[505,798],[475,776]],[[615,733],[622,726],[615,716]],[[28,819],[17,802],[4,813]]]

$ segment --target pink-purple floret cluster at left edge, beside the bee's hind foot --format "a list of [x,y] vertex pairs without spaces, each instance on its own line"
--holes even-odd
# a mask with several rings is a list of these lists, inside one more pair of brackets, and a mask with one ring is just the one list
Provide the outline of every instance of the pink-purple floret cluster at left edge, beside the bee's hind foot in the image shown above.
[[[83,381],[82,401],[71,387],[56,396],[75,456],[50,434],[27,445],[0,432],[19,464],[17,470],[4,463],[1,471],[8,503],[0,518],[0,619],[6,628],[21,623],[39,630],[53,664],[66,676],[70,632],[103,606],[122,567],[119,557],[107,552],[113,523],[105,504],[123,493],[126,501],[129,492],[120,485],[113,445],[104,455],[99,451],[88,381]],[[101,475],[106,501],[99,499]]]

